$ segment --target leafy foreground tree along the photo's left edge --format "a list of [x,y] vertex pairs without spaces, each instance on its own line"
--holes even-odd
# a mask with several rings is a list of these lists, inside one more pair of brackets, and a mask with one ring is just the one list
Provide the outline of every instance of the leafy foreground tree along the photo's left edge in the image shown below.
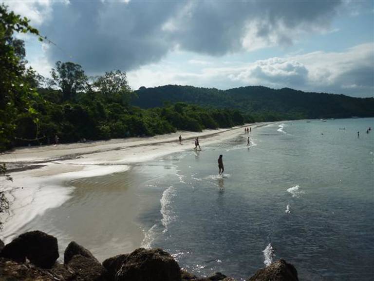
[[35,82],[31,82],[35,73],[25,66],[23,41],[14,38],[15,33],[31,33],[42,40],[28,23],[27,18],[8,12],[0,4],[0,151],[12,146],[20,115],[36,126],[39,122],[35,103],[38,94]]

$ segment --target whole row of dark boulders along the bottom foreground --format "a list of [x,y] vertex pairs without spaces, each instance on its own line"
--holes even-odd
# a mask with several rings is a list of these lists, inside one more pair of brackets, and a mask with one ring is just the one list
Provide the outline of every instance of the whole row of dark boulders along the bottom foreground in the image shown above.
[[[3,246],[0,241],[0,281],[235,281],[217,272],[210,277],[181,270],[161,249],[139,248],[101,264],[93,254],[71,242],[64,264],[58,258],[57,239],[40,231],[27,232]],[[299,281],[292,264],[284,260],[260,269],[247,281]]]

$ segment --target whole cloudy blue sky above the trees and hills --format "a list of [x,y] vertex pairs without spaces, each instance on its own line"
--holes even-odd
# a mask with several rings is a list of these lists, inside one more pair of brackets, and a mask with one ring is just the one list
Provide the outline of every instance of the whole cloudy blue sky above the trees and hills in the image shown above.
[[[0,0],[1,1],[1,0]],[[25,40],[43,76],[126,71],[133,90],[247,85],[374,96],[374,1],[2,0],[54,44]]]

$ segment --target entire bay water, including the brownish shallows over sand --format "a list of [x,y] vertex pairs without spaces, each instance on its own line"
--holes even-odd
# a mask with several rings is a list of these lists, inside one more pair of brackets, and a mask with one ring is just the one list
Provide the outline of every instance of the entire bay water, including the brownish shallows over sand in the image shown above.
[[162,247],[198,275],[244,280],[283,258],[304,281],[373,280],[369,126],[374,119],[287,121],[208,147],[201,140],[201,152],[73,181],[70,200],[19,233],[46,231],[61,251],[75,240],[99,260]]

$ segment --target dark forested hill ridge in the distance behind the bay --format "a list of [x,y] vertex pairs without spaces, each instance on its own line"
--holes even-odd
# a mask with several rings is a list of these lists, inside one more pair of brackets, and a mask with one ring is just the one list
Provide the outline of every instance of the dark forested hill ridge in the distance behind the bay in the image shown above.
[[[239,109],[261,120],[373,117],[374,98],[353,98],[344,95],[309,93],[290,88],[279,90],[263,86],[247,86],[229,90],[165,85],[141,87],[132,104],[142,108],[162,106],[165,102],[183,101],[216,108]],[[272,119],[272,118],[270,118]]]

